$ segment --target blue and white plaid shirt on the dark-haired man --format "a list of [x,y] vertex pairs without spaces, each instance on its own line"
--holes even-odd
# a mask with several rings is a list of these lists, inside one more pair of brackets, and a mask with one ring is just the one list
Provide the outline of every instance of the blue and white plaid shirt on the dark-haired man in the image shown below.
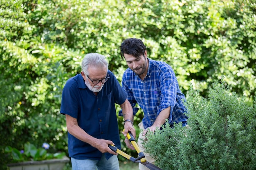
[[[135,115],[139,104],[144,111],[142,120],[144,128],[153,125],[159,113],[171,107],[169,123],[182,122],[186,125],[186,108],[182,100],[186,100],[180,91],[175,73],[170,65],[162,61],[149,60],[148,73],[144,80],[141,80],[130,68],[122,78],[122,87],[127,92],[127,99],[130,101],[133,114]],[[122,112],[119,112],[119,116]]]

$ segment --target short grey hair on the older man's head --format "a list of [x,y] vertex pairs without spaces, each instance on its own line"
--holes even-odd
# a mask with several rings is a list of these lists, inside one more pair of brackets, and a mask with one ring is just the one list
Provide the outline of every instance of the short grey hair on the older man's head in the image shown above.
[[88,75],[89,67],[106,68],[108,69],[108,61],[106,57],[99,53],[88,53],[85,55],[82,61],[82,71],[85,75]]

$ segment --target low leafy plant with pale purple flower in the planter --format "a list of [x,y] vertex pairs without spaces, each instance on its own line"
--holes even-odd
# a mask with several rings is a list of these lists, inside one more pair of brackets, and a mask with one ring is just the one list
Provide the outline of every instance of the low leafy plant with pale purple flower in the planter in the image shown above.
[[13,162],[23,161],[42,161],[47,159],[61,159],[65,156],[64,152],[61,153],[47,153],[49,144],[43,143],[42,147],[36,148],[34,144],[26,143],[24,150],[18,150],[11,146],[5,147],[5,153],[9,153]]

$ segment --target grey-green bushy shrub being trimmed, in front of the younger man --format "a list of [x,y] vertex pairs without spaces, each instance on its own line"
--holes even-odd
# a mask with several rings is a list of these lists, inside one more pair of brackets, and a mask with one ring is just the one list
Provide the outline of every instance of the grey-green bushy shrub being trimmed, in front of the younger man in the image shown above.
[[[144,143],[163,170],[256,169],[256,102],[213,83],[209,98],[190,90],[186,99],[188,126],[163,126]],[[167,122],[166,122],[167,123]]]

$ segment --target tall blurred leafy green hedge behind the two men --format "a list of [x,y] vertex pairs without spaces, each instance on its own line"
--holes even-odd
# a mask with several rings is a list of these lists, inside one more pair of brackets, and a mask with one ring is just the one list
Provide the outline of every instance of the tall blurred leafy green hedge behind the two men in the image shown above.
[[[252,105],[253,0],[0,0],[2,166],[7,144],[47,142],[67,151],[65,117],[59,114],[65,82],[81,71],[88,52],[108,57],[121,81],[127,66],[119,45],[129,37],[141,38],[151,59],[173,67],[184,94],[193,84],[208,97],[211,84],[225,76],[231,91]],[[142,116],[140,111],[135,124]],[[118,120],[121,131],[123,119]]]

